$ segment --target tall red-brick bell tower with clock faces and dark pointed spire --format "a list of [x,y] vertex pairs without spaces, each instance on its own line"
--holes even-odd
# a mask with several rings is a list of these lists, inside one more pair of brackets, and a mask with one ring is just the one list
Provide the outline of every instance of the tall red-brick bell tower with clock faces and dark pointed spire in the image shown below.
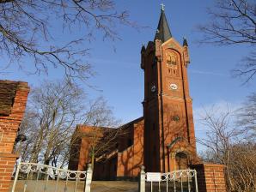
[[144,165],[146,171],[186,169],[197,159],[186,39],[172,36],[162,5],[154,41],[143,45]]

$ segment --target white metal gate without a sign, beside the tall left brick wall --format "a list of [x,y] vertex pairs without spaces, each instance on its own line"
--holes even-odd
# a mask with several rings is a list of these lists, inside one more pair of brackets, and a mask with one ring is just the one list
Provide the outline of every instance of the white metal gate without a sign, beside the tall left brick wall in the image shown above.
[[15,171],[12,192],[89,192],[91,165],[87,171],[70,171],[50,165],[19,163]]

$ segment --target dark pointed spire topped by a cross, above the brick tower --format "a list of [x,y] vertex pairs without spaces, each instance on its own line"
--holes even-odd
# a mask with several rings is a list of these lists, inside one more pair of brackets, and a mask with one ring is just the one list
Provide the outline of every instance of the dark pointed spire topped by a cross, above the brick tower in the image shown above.
[[167,41],[172,37],[172,33],[170,31],[170,28],[168,26],[168,21],[164,13],[164,5],[163,4],[161,5],[162,5],[161,16],[158,22],[156,33],[155,33],[155,39],[159,39],[162,41],[162,43],[164,43],[165,41]]

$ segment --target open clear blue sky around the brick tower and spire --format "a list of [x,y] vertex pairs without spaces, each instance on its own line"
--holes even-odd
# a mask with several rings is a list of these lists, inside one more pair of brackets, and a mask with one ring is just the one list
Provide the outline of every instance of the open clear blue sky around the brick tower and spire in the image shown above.
[[[246,46],[214,46],[198,45],[201,34],[196,27],[210,20],[207,8],[213,6],[212,0],[119,0],[117,9],[127,9],[131,21],[143,26],[139,31],[131,27],[118,27],[121,40],[115,42],[102,41],[101,38],[89,43],[90,55],[87,61],[92,64],[96,75],[85,84],[88,99],[104,96],[108,105],[113,107],[114,115],[124,123],[143,116],[143,69],[140,69],[140,50],[143,44],[153,40],[160,18],[161,3],[165,4],[165,13],[171,33],[182,43],[186,37],[189,44],[191,63],[188,66],[190,95],[193,99],[193,110],[201,111],[210,105],[229,103],[239,106],[247,95],[255,91],[255,80],[241,85],[239,78],[231,77],[230,71],[235,69],[242,57],[247,55]],[[56,27],[56,33],[58,27]],[[81,32],[82,33],[82,32]],[[68,36],[66,37],[68,38]],[[4,64],[0,61],[0,67]],[[29,61],[25,61],[29,63]],[[27,81],[37,86],[44,79],[54,80],[61,77],[60,69],[52,69],[46,75],[27,75],[15,67],[5,69],[0,79]],[[224,106],[224,105],[223,105]],[[194,116],[195,127],[199,134],[198,115]]]

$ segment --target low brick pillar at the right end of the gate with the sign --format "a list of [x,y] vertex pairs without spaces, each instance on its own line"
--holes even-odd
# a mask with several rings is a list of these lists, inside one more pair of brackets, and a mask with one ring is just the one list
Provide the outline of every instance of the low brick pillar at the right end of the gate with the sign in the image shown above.
[[192,165],[198,172],[199,192],[225,192],[224,165],[199,164]]

